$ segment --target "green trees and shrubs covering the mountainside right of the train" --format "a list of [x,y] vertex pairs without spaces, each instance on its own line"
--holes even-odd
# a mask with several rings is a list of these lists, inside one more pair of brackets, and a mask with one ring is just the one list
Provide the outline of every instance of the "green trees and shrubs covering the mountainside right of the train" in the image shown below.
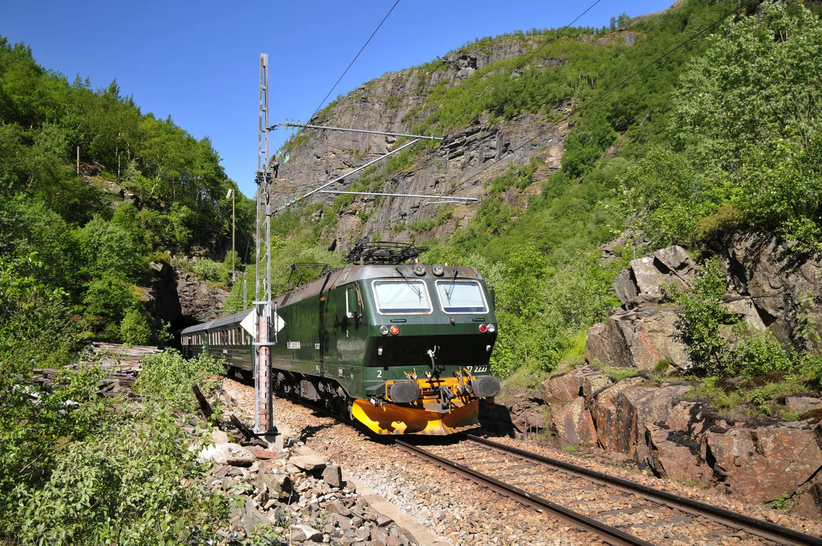
[[[487,197],[467,225],[447,241],[425,242],[432,245],[426,261],[478,266],[495,287],[496,373],[523,364],[548,371],[580,358],[574,340],[617,303],[610,284],[637,241],[629,237],[622,260],[604,268],[599,245],[626,229],[649,238],[651,249],[709,245],[741,227],[776,230],[797,238],[799,249],[822,249],[822,178],[814,159],[822,151],[819,10],[798,2],[735,7],[689,0],[657,16],[620,17],[608,29],[503,37],[530,40],[523,41],[527,53],[492,62],[459,85],[442,81],[404,118],[415,131],[436,134],[483,116],[491,124],[525,113],[570,123],[561,169],[547,173],[536,156],[511,167],[487,181]],[[723,19],[728,13],[734,16]],[[490,51],[493,43],[481,39],[459,53]],[[406,153],[423,152],[418,145]],[[376,185],[389,178],[385,169],[369,174]],[[329,234],[349,202],[335,201],[312,225],[313,236]],[[370,214],[360,213],[366,220]],[[291,228],[305,233],[307,215],[296,216]],[[390,235],[424,238],[436,224],[398,223]],[[516,295],[522,290],[528,305]]]

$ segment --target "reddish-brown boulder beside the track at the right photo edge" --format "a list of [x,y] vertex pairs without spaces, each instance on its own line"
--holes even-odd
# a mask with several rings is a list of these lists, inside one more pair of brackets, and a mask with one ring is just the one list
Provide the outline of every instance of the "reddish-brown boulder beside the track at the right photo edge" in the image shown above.
[[817,438],[822,429],[806,423],[759,428],[712,427],[705,433],[704,459],[725,493],[751,503],[791,496],[822,469]]

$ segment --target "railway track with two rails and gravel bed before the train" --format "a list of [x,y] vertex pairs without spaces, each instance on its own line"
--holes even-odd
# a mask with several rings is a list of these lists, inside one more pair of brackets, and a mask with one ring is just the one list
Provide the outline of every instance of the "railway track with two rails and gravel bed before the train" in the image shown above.
[[401,440],[396,445],[608,544],[822,546],[822,539],[782,525],[470,434],[427,450]]

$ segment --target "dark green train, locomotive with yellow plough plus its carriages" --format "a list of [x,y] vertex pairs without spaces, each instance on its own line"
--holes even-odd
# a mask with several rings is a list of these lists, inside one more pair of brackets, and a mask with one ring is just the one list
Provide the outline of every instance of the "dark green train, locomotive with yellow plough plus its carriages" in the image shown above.
[[[275,299],[272,388],[321,402],[381,434],[450,434],[479,426],[489,371],[493,295],[472,267],[350,265]],[[256,313],[178,332],[183,354],[206,350],[251,371]]]

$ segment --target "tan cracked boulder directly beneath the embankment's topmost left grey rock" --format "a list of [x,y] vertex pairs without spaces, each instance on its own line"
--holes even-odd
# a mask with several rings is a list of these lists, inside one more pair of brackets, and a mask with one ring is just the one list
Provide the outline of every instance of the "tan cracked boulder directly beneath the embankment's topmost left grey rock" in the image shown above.
[[589,329],[585,359],[644,371],[653,371],[663,359],[677,368],[690,368],[685,345],[674,338],[678,320],[675,309],[658,306],[614,313],[604,325]]

